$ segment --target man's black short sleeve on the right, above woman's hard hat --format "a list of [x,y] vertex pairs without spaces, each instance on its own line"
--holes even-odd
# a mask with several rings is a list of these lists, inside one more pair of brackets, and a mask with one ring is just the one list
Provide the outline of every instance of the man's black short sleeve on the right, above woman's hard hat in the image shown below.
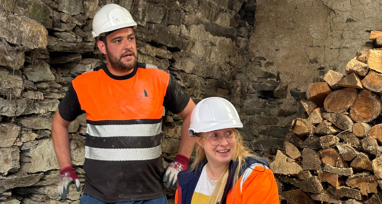
[[173,75],[170,74],[163,106],[174,114],[178,114],[186,108],[190,95],[179,85]]

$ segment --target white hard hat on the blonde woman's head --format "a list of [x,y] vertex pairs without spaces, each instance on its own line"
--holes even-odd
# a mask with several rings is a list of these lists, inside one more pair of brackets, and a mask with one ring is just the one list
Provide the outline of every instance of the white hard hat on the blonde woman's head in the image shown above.
[[220,129],[243,127],[230,101],[220,97],[201,100],[191,113],[190,136]]

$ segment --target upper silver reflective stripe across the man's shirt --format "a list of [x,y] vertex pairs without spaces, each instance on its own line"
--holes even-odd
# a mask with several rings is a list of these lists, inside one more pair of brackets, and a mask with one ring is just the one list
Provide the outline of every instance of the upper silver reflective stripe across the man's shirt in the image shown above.
[[87,124],[86,133],[94,137],[151,137],[162,132],[162,122],[155,124]]

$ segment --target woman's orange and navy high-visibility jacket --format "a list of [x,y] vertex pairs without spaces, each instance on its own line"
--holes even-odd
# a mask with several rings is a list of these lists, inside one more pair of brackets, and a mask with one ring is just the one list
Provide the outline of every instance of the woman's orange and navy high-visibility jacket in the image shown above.
[[[231,188],[227,195],[223,195],[220,204],[223,203],[279,203],[279,195],[276,180],[273,172],[265,168],[264,165],[256,165],[254,170],[246,169]],[[201,168],[203,169],[203,167]],[[229,167],[230,175],[234,168]],[[249,171],[248,171],[249,170]],[[190,204],[194,193],[198,177],[201,173],[181,173],[178,174],[178,189],[175,194],[175,204]],[[248,174],[249,173],[249,174]],[[179,177],[180,176],[180,177]],[[244,180],[245,179],[245,180]],[[244,180],[244,181],[242,181]],[[227,182],[229,183],[230,180]],[[181,185],[179,185],[181,183]],[[229,184],[226,185],[229,186]],[[226,197],[226,199],[224,199]]]

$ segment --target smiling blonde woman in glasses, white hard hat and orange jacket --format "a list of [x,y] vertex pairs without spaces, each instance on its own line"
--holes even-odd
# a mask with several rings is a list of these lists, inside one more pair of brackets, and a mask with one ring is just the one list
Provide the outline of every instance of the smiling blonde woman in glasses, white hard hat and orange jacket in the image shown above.
[[279,203],[277,184],[266,160],[244,149],[242,127],[226,99],[201,100],[191,115],[196,140],[191,168],[178,174],[176,204]]

